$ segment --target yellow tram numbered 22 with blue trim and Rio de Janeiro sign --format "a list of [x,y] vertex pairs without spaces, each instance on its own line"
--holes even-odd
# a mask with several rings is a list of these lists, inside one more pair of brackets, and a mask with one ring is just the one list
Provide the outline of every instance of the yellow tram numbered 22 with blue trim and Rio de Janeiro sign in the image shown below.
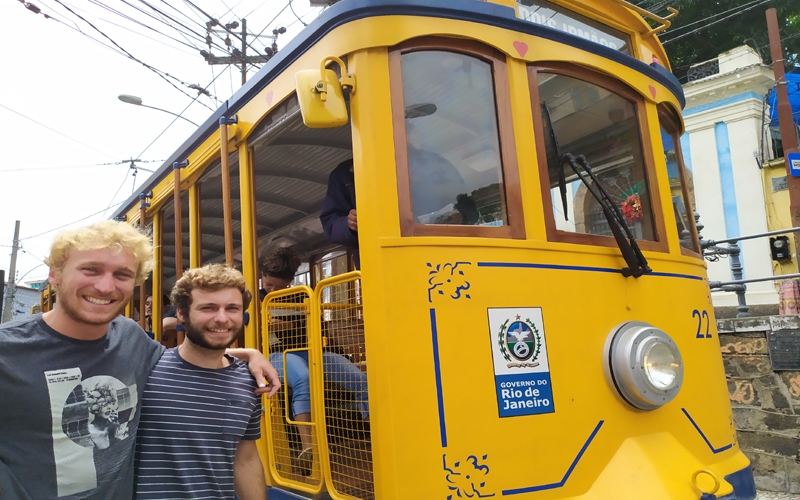
[[[307,352],[311,418],[265,400],[270,499],[755,498],[668,25],[624,0],[343,0],[115,214],[152,227],[156,297],[303,256],[243,339],[304,318],[278,354]],[[319,220],[349,158],[360,270]],[[328,352],[368,375],[367,415]]]

